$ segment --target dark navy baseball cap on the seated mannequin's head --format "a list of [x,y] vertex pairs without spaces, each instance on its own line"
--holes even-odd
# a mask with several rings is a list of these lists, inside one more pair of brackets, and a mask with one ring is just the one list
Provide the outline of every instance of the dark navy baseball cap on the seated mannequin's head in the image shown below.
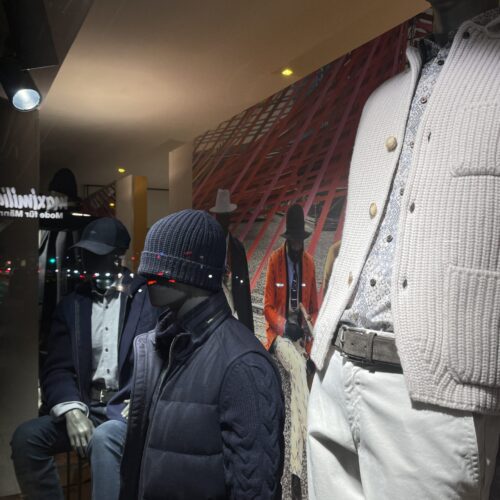
[[130,235],[127,228],[118,220],[102,217],[85,226],[80,241],[73,245],[97,255],[107,255],[113,250],[127,250]]

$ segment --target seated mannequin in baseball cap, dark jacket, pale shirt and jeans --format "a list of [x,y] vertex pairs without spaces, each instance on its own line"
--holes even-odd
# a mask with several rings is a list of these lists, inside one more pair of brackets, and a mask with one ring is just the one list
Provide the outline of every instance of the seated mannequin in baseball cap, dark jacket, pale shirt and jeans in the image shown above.
[[50,414],[21,424],[11,442],[26,498],[63,498],[53,456],[72,448],[90,459],[92,498],[118,498],[132,343],[158,316],[145,280],[122,267],[129,243],[120,221],[100,218],[75,245],[83,281],[56,308],[41,370]]

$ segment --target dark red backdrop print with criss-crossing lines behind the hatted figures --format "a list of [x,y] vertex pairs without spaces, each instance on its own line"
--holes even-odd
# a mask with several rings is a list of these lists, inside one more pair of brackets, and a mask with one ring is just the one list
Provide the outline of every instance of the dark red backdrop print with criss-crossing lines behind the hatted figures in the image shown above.
[[[304,208],[312,233],[305,247],[314,257],[321,300],[326,256],[341,238],[349,164],[363,106],[378,86],[403,70],[407,44],[430,28],[429,14],[410,20],[196,139],[193,204],[209,209],[217,189],[229,189],[238,205],[231,232],[247,251],[259,338],[265,337],[266,269],[272,251],[283,244],[288,207],[299,203]],[[288,377],[282,374],[288,393]],[[284,498],[290,497],[288,455]],[[305,483],[304,460],[303,494]]]

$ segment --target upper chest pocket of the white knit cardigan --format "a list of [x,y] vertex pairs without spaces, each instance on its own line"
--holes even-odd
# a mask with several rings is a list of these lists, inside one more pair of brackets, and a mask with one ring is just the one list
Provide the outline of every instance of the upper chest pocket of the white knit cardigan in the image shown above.
[[451,140],[452,174],[500,176],[500,102],[458,110]]

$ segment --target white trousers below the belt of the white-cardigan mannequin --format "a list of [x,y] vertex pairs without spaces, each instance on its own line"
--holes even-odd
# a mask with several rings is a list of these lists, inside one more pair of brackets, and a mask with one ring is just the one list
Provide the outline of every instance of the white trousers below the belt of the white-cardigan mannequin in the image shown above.
[[500,418],[412,404],[401,373],[332,355],[308,416],[310,500],[487,500]]

